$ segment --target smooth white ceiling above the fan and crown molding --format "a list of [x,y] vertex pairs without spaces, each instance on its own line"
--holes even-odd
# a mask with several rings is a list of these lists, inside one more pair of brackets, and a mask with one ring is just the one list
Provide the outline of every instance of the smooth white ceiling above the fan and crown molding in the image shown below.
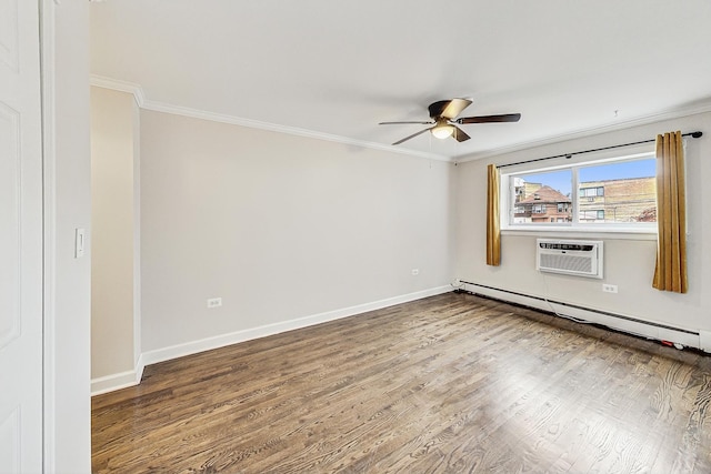
[[522,114],[393,148],[475,158],[711,110],[710,23],[709,0],[109,0],[91,72],[149,108],[375,148],[424,127],[378,122],[435,100]]

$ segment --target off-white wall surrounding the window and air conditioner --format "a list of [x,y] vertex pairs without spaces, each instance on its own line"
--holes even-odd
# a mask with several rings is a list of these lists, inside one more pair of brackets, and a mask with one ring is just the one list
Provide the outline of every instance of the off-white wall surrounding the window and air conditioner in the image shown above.
[[[513,231],[502,235],[502,264],[485,265],[485,196],[489,163],[503,164],[528,159],[653,139],[658,133],[681,130],[707,132],[688,139],[688,256],[689,293],[675,294],[652,289],[655,240],[623,240],[613,234],[595,234],[604,240],[604,280],[589,280],[535,271],[535,235]],[[491,159],[459,164],[457,174],[457,276],[474,283],[534,296],[574,303],[674,327],[711,330],[711,113],[695,114],[628,130],[571,140]],[[549,234],[545,234],[549,236]],[[550,235],[553,236],[553,235]],[[564,238],[565,234],[558,234]],[[704,240],[707,244],[704,245]],[[619,285],[619,293],[602,293],[601,283]],[[472,289],[473,290],[473,289]]]

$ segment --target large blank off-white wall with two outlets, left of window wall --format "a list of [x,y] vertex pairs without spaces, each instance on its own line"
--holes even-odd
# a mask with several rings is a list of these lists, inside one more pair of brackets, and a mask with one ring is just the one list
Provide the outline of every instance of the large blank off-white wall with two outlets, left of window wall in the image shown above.
[[[453,172],[141,111],[143,352],[442,291],[452,278]],[[218,296],[223,305],[207,309]]]

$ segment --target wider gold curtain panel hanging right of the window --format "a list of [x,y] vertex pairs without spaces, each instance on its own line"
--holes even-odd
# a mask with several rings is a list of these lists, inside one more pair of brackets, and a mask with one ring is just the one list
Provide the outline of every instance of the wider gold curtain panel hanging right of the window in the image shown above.
[[652,286],[687,292],[687,191],[681,132],[657,135],[657,266]]

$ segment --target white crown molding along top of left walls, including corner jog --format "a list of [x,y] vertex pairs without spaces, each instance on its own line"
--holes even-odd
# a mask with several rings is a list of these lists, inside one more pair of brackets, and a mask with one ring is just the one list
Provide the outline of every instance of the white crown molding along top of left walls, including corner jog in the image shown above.
[[424,158],[428,160],[447,161],[447,162],[452,161],[450,157],[445,157],[437,153],[427,153],[421,151],[407,150],[402,148],[384,145],[382,143],[349,139],[346,137],[333,135],[330,133],[314,132],[312,130],[300,129],[297,127],[279,125],[276,123],[260,122],[258,120],[244,119],[241,117],[208,112],[204,110],[191,109],[191,108],[181,107],[181,105],[173,105],[164,102],[157,102],[146,98],[146,94],[143,93],[143,88],[141,88],[140,84],[128,82],[128,81],[120,81],[111,78],[106,78],[102,75],[92,74],[91,85],[131,93],[133,94],[133,99],[136,100],[136,103],[138,104],[138,107],[140,107],[141,109],[152,110],[156,112],[171,113],[174,115],[190,117],[193,119],[209,120],[212,122],[230,123],[233,125],[248,127],[251,129],[268,130],[272,132],[306,137],[306,138],[316,139],[316,140],[324,140],[324,141],[336,142],[336,143],[342,143],[350,147],[361,147],[361,148],[368,148],[372,150],[387,151],[390,153],[407,154],[410,157]]

